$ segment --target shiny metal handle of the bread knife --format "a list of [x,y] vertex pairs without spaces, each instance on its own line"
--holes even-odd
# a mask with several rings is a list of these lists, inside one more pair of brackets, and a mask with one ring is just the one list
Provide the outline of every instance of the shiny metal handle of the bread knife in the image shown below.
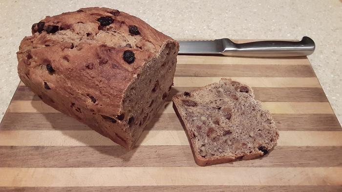
[[309,37],[300,41],[265,40],[248,43],[235,43],[228,38],[222,39],[225,48],[222,55],[243,57],[298,57],[311,55],[315,42]]

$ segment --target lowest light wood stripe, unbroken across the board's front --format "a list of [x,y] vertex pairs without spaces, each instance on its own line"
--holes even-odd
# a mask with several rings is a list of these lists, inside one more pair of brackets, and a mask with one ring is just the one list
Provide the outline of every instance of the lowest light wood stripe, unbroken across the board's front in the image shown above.
[[[3,187],[140,185],[342,185],[342,168],[0,168]],[[192,173],[192,174],[189,174]],[[101,176],[100,176],[101,175]]]

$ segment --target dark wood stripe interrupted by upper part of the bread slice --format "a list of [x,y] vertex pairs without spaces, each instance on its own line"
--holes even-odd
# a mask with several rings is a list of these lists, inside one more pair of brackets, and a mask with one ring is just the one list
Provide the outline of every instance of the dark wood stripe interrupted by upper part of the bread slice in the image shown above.
[[[172,96],[182,94],[185,91],[192,91],[198,87],[173,87],[167,101]],[[327,102],[324,91],[321,88],[253,88],[256,99],[263,102]],[[13,100],[40,100],[26,86],[19,86],[13,96]]]

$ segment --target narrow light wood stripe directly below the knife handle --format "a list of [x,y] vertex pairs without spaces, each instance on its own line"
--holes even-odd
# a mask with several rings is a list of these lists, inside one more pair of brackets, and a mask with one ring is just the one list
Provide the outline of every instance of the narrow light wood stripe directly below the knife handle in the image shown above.
[[242,58],[217,56],[177,56],[177,66],[182,64],[225,65],[310,65],[306,57],[294,58]]

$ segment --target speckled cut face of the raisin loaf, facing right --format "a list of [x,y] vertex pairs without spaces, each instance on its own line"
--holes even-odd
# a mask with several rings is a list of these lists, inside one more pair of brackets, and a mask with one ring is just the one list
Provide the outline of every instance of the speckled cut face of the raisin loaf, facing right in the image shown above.
[[178,49],[177,42],[167,41],[158,57],[147,62],[128,87],[121,111],[122,114],[127,114],[124,129],[130,138],[128,149],[134,148],[144,128],[169,96]]

